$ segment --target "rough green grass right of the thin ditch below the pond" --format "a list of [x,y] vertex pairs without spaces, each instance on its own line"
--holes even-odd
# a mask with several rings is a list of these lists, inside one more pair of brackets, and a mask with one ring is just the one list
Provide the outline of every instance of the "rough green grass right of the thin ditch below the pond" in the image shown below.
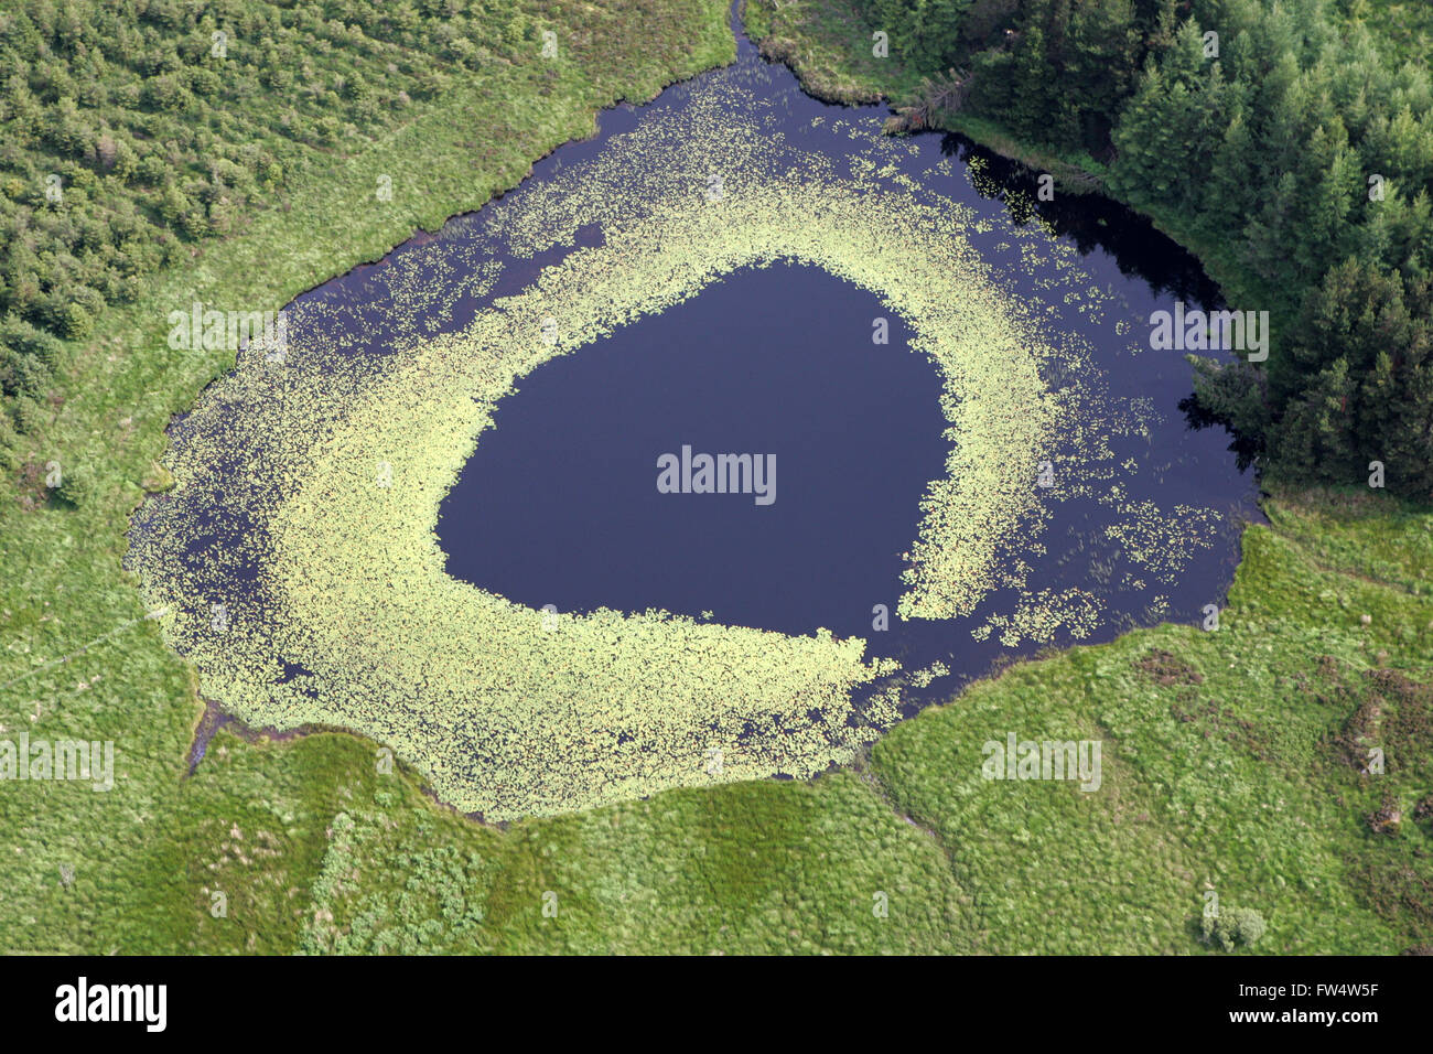
[[[1287,531],[1245,532],[1218,631],[1158,627],[1022,664],[876,747],[898,807],[960,846],[954,875],[990,951],[1187,952],[1207,889],[1264,915],[1262,952],[1393,952],[1433,936],[1426,921],[1380,912],[1350,875],[1394,856],[1433,878],[1417,856],[1433,848],[1426,823],[1373,835],[1363,820],[1386,794],[1407,817],[1433,789],[1422,733],[1370,743],[1387,751],[1384,776],[1360,776],[1334,744],[1361,703],[1387,694],[1380,677],[1429,684],[1433,604],[1363,578],[1358,556],[1330,564],[1294,541],[1320,529],[1321,500],[1277,500]],[[1433,529],[1380,505],[1347,521],[1344,541],[1394,523]],[[1433,718],[1427,688],[1413,695],[1410,727]],[[1007,730],[1102,739],[1105,786],[982,787],[980,743]]]

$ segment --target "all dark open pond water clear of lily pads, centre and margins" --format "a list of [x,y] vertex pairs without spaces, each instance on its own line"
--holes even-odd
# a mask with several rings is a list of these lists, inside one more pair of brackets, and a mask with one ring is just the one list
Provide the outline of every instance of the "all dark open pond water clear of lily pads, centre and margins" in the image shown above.
[[[841,149],[837,136],[813,132],[815,116],[887,115],[880,106],[820,103],[784,67],[765,66],[739,33],[738,42],[735,72],[749,75],[751,90],[790,115],[782,133],[802,146]],[[679,109],[685,93],[675,86],[652,106]],[[529,182],[596,156],[646,110],[620,106],[602,113],[593,139],[559,148],[535,165]],[[1168,597],[1162,618],[1198,621],[1204,605],[1222,601],[1232,578],[1240,523],[1260,519],[1255,483],[1241,472],[1221,429],[1185,424],[1181,400],[1189,394],[1191,371],[1184,359],[1131,354],[1128,346],[1148,331],[1152,311],[1171,310],[1175,300],[1212,307],[1217,287],[1192,257],[1103,198],[1060,194],[1056,202],[1039,202],[1033,174],[969,141],[933,133],[913,142],[919,153],[900,162],[913,178],[939,179],[936,189],[980,217],[1037,214],[1055,237],[1079,250],[1091,283],[1116,293],[1111,310],[1129,321],[1131,336],[1113,337],[1108,323],[1096,326],[1075,308],[1058,320],[1096,348],[1112,396],[1148,400],[1162,422],[1149,436],[1118,439],[1116,460],[1139,463],[1141,496],[1162,509],[1187,503],[1225,516],[1214,546],[1195,555],[1178,584],[1116,598],[1088,640],[1155,621],[1146,609],[1155,592]],[[931,174],[941,156],[957,162],[954,178]],[[973,184],[963,174],[970,161],[984,172]],[[436,297],[420,320],[427,333],[460,330],[490,298],[524,288],[570,251],[509,257],[487,244],[484,215],[454,218],[436,237],[420,235],[298,298],[291,305],[295,344],[337,328],[353,354],[383,354],[411,333],[411,320],[394,310],[387,275],[417,268],[434,287],[460,290],[464,274],[483,260],[500,260],[496,288],[483,297]],[[1043,275],[1027,272],[1017,250],[999,247],[1003,239],[999,229],[970,234],[995,281],[1025,297]],[[877,315],[890,320],[887,346],[871,343]],[[870,654],[900,658],[907,668],[944,661],[952,677],[910,697],[949,698],[959,683],[1036,645],[1010,650],[972,637],[990,612],[1015,607],[1013,591],[992,594],[969,619],[894,618],[919,502],[927,483],[944,475],[946,457],[940,377],[923,356],[907,351],[909,337],[871,294],[815,268],[784,264],[731,274],[686,303],[546,363],[519,381],[520,394],[499,404],[496,427],[484,432],[441,505],[438,538],[449,572],[533,608],[665,608],[792,634],[824,627],[838,637],[864,637]],[[183,442],[183,430],[176,424],[176,442]],[[659,493],[656,457],[681,453],[684,445],[696,453],[775,455],[775,502]],[[242,479],[242,452],[235,452],[231,478]],[[226,485],[216,485],[216,498]],[[196,543],[196,561],[211,559],[205,554],[215,552],[224,535],[251,529],[239,513],[225,516]],[[1109,509],[1093,502],[1056,503],[1042,533],[1049,555],[1030,574],[1029,588],[1101,591],[1121,559],[1115,546],[1092,541],[1109,519]],[[225,578],[224,589],[215,589],[221,595],[236,595],[254,581],[246,566],[228,568]],[[890,608],[888,631],[873,631],[874,605]],[[1065,634],[1055,642],[1072,640]]]

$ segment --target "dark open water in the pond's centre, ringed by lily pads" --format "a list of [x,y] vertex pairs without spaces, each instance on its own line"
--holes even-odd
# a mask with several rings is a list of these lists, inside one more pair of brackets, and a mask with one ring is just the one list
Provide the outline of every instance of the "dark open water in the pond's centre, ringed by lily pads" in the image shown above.
[[[539,367],[443,503],[449,574],[535,608],[868,630],[946,459],[936,367],[898,317],[873,344],[886,314],[813,267],[745,270]],[[774,500],[659,493],[684,445],[772,455]]]

